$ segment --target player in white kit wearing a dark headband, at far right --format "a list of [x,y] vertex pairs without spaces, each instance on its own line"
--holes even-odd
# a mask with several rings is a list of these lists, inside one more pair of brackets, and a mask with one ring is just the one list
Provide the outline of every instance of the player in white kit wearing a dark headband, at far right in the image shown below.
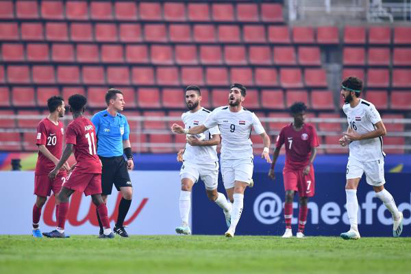
[[373,186],[375,196],[381,199],[393,215],[393,236],[398,237],[403,229],[403,214],[395,206],[393,196],[384,188],[385,153],[382,151],[382,136],[386,135],[386,128],[375,106],[360,99],[361,90],[362,81],[357,77],[347,77],[341,84],[348,129],[339,142],[343,147],[349,145],[345,193],[351,228],[340,236],[345,240],[360,238],[357,223],[357,187],[362,174],[365,173],[367,184]]

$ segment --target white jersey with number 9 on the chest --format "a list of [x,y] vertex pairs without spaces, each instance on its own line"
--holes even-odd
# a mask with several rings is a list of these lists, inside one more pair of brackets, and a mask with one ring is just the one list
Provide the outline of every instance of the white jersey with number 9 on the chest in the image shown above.
[[219,125],[221,132],[221,159],[245,159],[253,156],[251,129],[256,134],[265,132],[256,114],[242,108],[239,112],[229,111],[228,106],[213,110],[204,126],[207,128]]

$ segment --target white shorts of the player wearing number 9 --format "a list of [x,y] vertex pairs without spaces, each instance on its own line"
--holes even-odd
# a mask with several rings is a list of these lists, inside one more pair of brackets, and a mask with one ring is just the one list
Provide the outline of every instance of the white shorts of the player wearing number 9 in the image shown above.
[[253,157],[245,159],[221,159],[221,175],[225,189],[234,188],[234,182],[249,184],[253,177]]

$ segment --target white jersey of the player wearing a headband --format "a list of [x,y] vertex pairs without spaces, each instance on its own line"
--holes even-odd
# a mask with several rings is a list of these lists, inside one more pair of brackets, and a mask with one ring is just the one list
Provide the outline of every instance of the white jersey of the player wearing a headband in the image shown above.
[[[349,103],[343,105],[347,115],[348,126],[357,134],[366,134],[375,130],[375,124],[381,121],[375,106],[369,101],[360,99],[355,108]],[[371,162],[382,159],[385,153],[382,150],[382,137],[353,141],[349,144],[349,157],[360,162]]]

